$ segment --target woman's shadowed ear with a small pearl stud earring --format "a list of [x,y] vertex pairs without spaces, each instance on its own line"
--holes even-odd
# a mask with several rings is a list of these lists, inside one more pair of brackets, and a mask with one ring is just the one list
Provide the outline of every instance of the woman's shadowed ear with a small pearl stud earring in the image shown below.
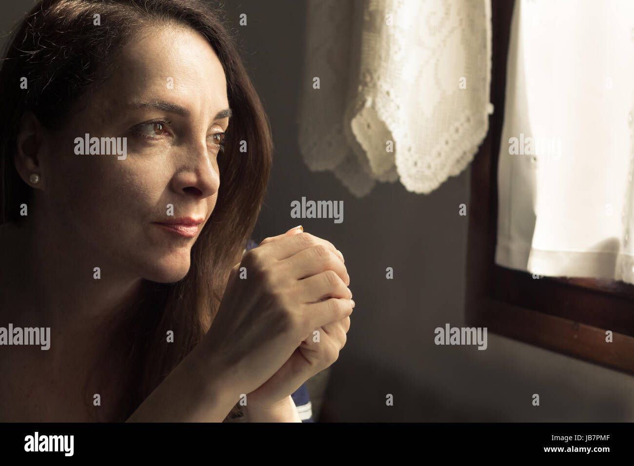
[[[46,129],[32,112],[27,112],[20,119],[16,138],[16,153],[13,157],[15,169],[25,183],[34,188],[43,189],[46,173],[42,166],[42,141]],[[36,173],[39,181],[33,183],[30,176]]]

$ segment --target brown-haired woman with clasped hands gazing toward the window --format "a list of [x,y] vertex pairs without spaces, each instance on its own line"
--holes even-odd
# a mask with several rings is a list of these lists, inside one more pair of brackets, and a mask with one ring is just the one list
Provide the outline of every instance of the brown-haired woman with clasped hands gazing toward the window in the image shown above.
[[0,325],[50,346],[0,346],[0,420],[297,422],[290,395],[337,359],[341,253],[301,229],[245,253],[273,143],[223,24],[202,1],[44,0],[13,33]]

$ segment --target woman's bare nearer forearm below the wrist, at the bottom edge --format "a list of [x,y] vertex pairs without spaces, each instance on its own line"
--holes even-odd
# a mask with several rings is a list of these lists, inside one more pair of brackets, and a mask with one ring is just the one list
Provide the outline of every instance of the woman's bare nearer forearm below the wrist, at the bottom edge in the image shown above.
[[127,422],[223,422],[238,399],[228,398],[222,384],[213,384],[195,351],[181,361]]

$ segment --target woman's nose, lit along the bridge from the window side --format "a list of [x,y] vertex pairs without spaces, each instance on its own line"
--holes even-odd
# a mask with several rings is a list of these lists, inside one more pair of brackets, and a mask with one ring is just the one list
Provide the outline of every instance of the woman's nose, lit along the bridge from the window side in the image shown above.
[[184,150],[186,153],[182,157],[186,162],[172,178],[172,189],[197,198],[216,194],[220,187],[220,174],[214,153],[207,149],[205,143],[192,143]]

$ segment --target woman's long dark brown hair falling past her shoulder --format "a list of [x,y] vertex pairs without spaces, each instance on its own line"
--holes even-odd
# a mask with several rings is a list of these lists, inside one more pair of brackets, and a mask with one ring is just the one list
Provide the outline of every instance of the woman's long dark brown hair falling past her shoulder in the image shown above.
[[[93,25],[95,15],[101,25]],[[86,382],[84,398],[95,420],[126,420],[209,330],[261,209],[273,153],[269,120],[223,11],[202,0],[42,0],[11,33],[0,70],[0,223],[20,223],[20,204],[29,204],[32,195],[13,165],[20,117],[33,112],[48,129],[62,126],[81,98],[107,79],[121,46],[141,27],[161,23],[202,34],[223,65],[233,116],[218,157],[222,183],[183,280],[144,280],[138,306],[125,320],[112,320],[108,347],[117,348],[116,354],[124,348],[124,356],[114,360],[115,353],[105,353],[95,370],[103,374],[112,366],[126,389],[100,419]],[[22,77],[27,89],[20,89]],[[240,141],[248,152],[240,152]],[[168,343],[169,330],[175,338]],[[236,416],[238,405],[225,420]]]

